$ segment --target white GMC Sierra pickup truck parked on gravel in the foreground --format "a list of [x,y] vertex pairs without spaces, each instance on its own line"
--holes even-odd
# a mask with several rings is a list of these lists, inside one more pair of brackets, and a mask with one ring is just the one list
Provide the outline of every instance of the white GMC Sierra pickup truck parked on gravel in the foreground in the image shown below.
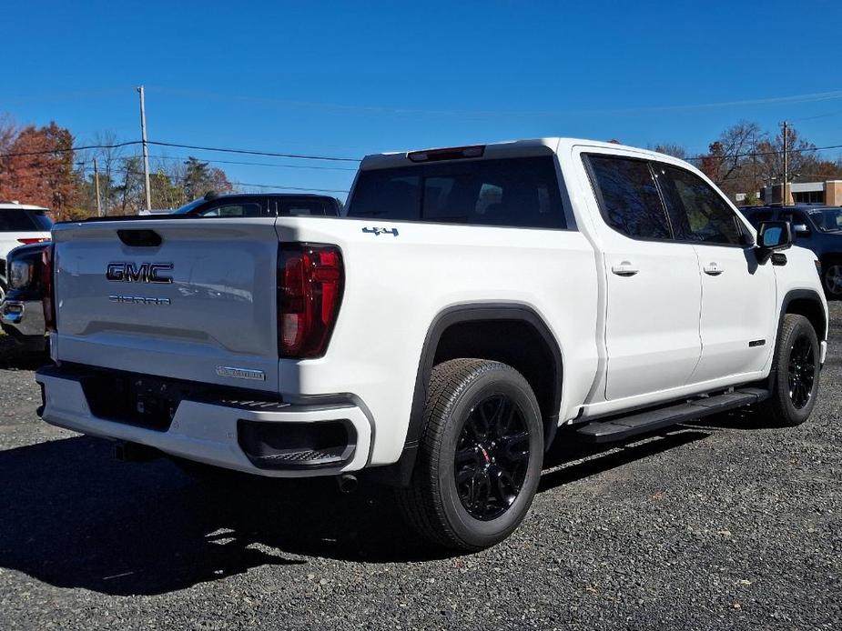
[[[344,216],[56,225],[46,422],[261,476],[398,487],[491,546],[559,439],[816,403],[827,303],[790,225],[693,166],[544,138],[370,155]],[[575,435],[575,436],[574,436]]]

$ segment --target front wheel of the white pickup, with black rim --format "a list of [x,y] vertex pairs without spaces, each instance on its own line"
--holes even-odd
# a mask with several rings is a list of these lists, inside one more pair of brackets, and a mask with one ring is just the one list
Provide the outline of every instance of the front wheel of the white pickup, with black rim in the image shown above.
[[809,418],[818,395],[820,354],[810,321],[803,315],[784,315],[772,365],[772,393],[760,408],[774,425],[798,426]]

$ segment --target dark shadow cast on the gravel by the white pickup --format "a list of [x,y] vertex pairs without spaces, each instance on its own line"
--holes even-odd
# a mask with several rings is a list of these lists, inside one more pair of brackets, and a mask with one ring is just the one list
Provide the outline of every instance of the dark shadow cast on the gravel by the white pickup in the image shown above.
[[[685,430],[641,445],[553,450],[541,490],[699,440]],[[0,452],[0,566],[60,587],[156,595],[259,566],[307,558],[412,562],[455,556],[403,525],[388,489],[342,495],[332,479],[248,478],[212,486],[166,459],[113,459],[112,444],[78,436]],[[297,575],[297,576],[296,576]]]

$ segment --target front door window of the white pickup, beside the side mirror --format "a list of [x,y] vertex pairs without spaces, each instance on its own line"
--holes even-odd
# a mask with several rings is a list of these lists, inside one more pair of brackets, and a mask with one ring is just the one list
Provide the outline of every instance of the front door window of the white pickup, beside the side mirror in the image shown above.
[[742,245],[743,225],[731,206],[698,175],[654,163],[670,222],[679,241]]

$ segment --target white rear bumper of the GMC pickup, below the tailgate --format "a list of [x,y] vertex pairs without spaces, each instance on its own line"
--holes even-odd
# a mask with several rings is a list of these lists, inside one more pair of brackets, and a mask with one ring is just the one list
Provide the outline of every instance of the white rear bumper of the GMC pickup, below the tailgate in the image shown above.
[[[85,378],[77,369],[55,366],[37,372],[44,396],[40,414],[47,423],[259,476],[330,476],[360,470],[369,460],[370,423],[350,402],[295,406],[188,397],[178,403],[172,421],[161,430],[95,416],[83,386]],[[319,436],[335,438],[339,427],[344,428],[339,432],[346,436],[344,445],[318,444]],[[298,446],[289,449],[284,444],[288,437]]]

